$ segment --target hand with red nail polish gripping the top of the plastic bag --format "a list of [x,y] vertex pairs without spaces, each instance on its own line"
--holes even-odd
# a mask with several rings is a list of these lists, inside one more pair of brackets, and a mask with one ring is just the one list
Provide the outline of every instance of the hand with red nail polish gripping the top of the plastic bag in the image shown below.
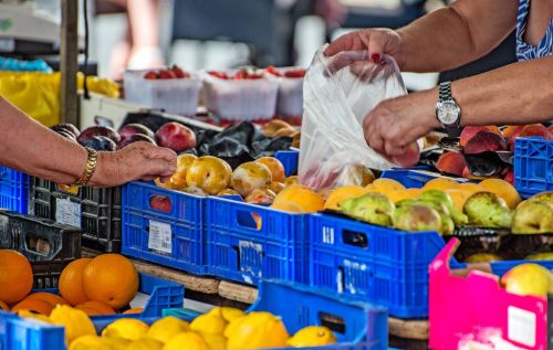
[[324,51],[325,56],[334,56],[344,51],[368,51],[369,59],[379,63],[386,55],[393,56],[401,66],[401,36],[390,29],[365,29],[345,34],[332,42]]

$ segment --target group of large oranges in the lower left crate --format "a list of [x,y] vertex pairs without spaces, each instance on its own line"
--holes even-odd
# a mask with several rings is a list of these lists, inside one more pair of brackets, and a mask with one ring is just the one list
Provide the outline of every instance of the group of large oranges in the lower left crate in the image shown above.
[[60,295],[31,293],[32,267],[19,252],[0,250],[0,308],[20,316],[48,317],[58,305],[73,306],[90,316],[113,315],[126,307],[138,290],[138,274],[134,265],[118,254],[70,263],[60,276]]

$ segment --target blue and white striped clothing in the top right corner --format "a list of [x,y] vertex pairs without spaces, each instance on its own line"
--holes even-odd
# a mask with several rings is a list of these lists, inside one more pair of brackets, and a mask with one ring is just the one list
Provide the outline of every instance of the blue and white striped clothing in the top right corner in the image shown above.
[[545,57],[551,55],[553,50],[553,19],[547,26],[545,36],[543,36],[538,46],[530,45],[524,41],[530,12],[530,1],[531,0],[520,0],[519,13],[517,14],[517,59],[519,61]]

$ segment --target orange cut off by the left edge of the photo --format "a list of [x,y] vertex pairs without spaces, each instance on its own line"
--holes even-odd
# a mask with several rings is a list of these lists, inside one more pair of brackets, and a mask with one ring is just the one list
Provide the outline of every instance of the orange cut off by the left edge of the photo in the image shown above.
[[32,289],[33,271],[21,253],[0,250],[0,300],[15,304]]

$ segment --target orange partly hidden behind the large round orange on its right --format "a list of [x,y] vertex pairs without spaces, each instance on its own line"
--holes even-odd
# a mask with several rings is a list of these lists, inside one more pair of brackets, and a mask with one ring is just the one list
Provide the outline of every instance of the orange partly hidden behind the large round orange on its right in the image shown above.
[[77,258],[62,271],[58,287],[62,297],[71,305],[88,300],[83,290],[83,272],[90,262],[92,262],[90,257]]

